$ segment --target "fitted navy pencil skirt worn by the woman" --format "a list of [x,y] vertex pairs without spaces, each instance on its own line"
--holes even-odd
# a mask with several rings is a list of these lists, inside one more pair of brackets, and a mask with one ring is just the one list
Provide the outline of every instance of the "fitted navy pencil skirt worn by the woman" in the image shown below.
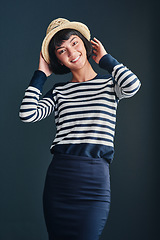
[[43,193],[49,240],[98,240],[110,209],[109,163],[54,155]]

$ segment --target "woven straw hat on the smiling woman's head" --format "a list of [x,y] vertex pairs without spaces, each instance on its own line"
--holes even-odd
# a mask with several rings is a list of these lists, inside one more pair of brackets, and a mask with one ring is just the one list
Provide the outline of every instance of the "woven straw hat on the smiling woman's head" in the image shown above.
[[47,28],[46,37],[44,38],[42,43],[42,55],[48,64],[50,63],[48,53],[49,42],[52,37],[62,29],[75,29],[79,31],[88,41],[90,41],[90,31],[85,24],[80,22],[70,22],[69,20],[64,18],[57,18],[53,20]]

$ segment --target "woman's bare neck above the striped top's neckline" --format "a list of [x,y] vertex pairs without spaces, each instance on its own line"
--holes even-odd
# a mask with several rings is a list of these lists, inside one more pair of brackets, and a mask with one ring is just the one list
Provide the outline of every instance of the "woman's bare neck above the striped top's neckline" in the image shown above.
[[87,62],[86,66],[82,69],[72,71],[71,82],[85,82],[93,79],[97,73],[93,70],[91,64]]

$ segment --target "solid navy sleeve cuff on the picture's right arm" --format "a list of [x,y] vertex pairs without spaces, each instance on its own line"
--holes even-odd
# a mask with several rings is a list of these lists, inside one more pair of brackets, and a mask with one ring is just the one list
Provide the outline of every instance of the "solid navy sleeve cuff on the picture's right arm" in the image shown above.
[[110,74],[113,71],[113,68],[120,64],[115,58],[113,58],[110,54],[104,55],[100,61],[99,66],[105,70],[107,70]]

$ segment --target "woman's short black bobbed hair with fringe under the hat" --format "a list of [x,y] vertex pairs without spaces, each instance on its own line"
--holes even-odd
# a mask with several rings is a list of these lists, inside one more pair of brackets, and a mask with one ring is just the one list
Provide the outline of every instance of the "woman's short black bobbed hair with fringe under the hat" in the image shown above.
[[55,48],[56,46],[60,46],[63,41],[68,40],[71,35],[77,35],[78,37],[81,38],[86,48],[87,59],[89,59],[89,57],[92,54],[91,42],[88,41],[79,31],[76,31],[74,29],[63,29],[57,32],[51,39],[48,46],[48,52],[49,52],[49,58],[50,58],[49,67],[50,67],[50,70],[55,74],[66,74],[70,72],[70,69],[68,67],[66,67],[65,65],[61,65],[59,63],[58,58],[55,54]]

